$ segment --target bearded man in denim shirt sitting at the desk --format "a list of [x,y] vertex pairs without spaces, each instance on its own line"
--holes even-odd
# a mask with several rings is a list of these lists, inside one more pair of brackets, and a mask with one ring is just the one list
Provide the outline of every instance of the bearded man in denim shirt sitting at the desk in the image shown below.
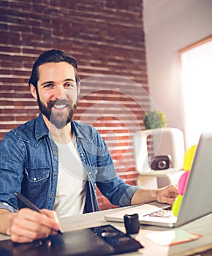
[[[142,189],[124,183],[96,129],[72,121],[80,94],[74,58],[61,50],[42,53],[29,86],[41,113],[0,144],[0,233],[20,243],[54,235],[58,217],[99,210],[95,186],[117,206],[173,203],[173,185]],[[44,214],[24,208],[15,191]]]

